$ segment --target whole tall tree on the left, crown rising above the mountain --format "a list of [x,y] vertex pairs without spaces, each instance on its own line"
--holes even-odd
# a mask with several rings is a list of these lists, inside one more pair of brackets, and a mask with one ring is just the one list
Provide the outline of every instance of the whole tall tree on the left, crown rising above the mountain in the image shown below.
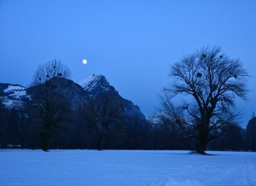
[[[34,91],[31,92],[29,104],[29,129],[34,149],[39,133],[42,150],[47,151],[50,141],[56,137],[59,147],[61,123],[64,123],[70,103],[61,90],[61,82],[71,77],[71,72],[61,61],[48,61],[39,66],[31,82]],[[39,127],[40,126],[40,127]]]

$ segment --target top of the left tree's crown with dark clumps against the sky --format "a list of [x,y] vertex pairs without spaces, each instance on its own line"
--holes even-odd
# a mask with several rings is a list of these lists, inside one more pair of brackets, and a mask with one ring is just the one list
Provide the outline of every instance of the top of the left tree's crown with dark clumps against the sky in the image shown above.
[[48,61],[47,63],[40,65],[37,71],[35,71],[31,85],[34,86],[45,83],[53,77],[69,79],[71,77],[71,71],[66,65],[61,63],[61,61],[57,61],[56,59]]

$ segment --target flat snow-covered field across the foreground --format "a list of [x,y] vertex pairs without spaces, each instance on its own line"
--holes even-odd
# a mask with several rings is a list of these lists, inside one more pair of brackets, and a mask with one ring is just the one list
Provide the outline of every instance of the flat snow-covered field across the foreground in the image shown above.
[[256,153],[0,150],[0,185],[256,185]]

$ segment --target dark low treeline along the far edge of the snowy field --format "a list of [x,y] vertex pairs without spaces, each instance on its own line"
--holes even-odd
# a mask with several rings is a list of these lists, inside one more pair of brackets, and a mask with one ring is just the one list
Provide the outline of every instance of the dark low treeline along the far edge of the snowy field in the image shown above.
[[[19,110],[0,112],[1,148],[43,149],[42,123],[37,117],[28,117]],[[176,131],[163,123],[152,123],[127,118],[109,128],[99,148],[100,135],[96,128],[84,122],[83,117],[73,115],[55,126],[49,136],[48,149],[117,149],[117,150],[195,150],[197,141],[176,139]],[[228,125],[225,133],[208,144],[208,150],[256,150],[256,117],[247,128]]]

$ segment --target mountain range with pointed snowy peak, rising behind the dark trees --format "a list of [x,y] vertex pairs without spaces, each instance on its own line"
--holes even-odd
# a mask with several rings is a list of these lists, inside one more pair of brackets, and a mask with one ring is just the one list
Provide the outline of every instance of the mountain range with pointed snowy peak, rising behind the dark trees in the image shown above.
[[[146,120],[146,117],[140,111],[140,107],[121,97],[103,75],[92,74],[79,83],[60,77],[54,77],[49,82],[56,87],[60,96],[64,96],[70,101],[73,110],[75,110],[75,106],[86,101],[90,96],[101,96],[102,93],[110,93],[111,96],[124,102],[125,114]],[[37,98],[45,86],[47,86],[46,83],[24,88],[21,85],[0,83],[0,106],[5,109],[20,109],[24,106],[24,101]]]

